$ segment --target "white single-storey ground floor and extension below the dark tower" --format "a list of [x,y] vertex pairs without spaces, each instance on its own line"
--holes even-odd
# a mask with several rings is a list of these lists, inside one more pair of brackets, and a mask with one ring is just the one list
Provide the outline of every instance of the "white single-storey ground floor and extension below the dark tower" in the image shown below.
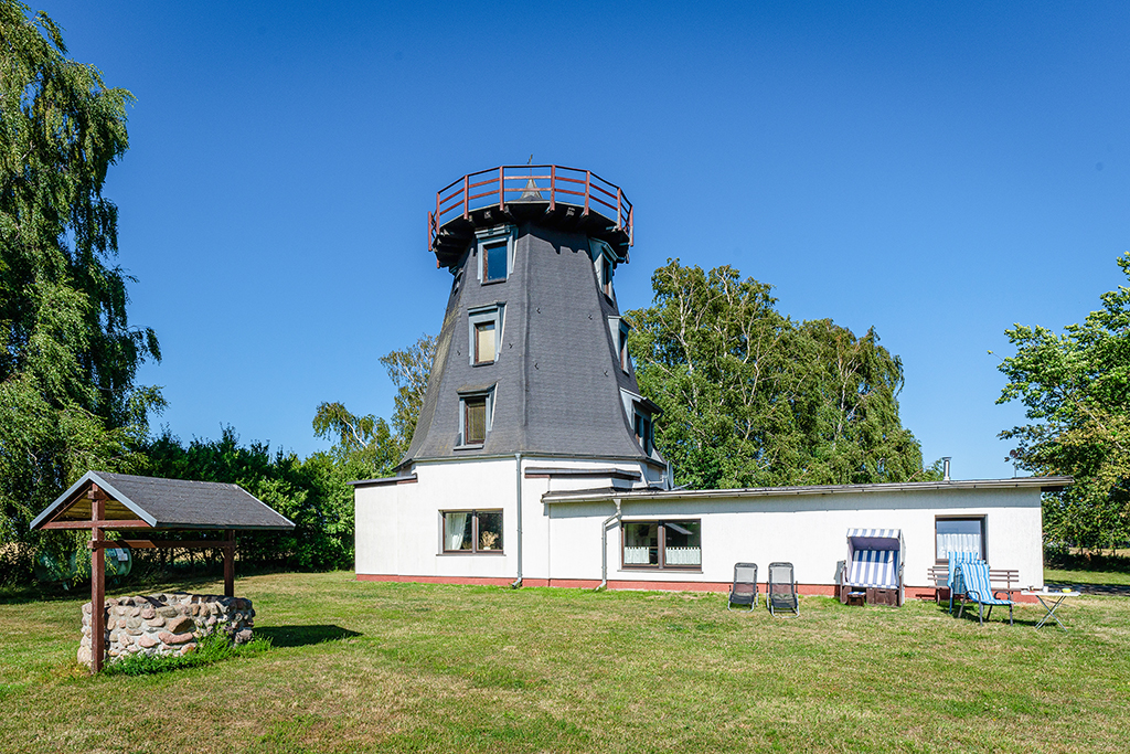
[[[631,469],[549,460],[419,463],[357,483],[357,578],[723,591],[734,563],[764,573],[782,561],[802,593],[832,595],[847,530],[884,528],[903,532],[907,597],[932,593],[928,570],[948,552],[979,552],[1042,587],[1041,491],[1070,482],[633,489]],[[484,548],[488,529],[498,537]]]

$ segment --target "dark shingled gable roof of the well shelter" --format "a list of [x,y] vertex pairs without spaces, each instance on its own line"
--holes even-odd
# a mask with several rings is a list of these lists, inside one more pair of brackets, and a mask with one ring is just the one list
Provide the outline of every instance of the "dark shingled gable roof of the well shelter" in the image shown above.
[[107,471],[87,471],[32,521],[32,528],[78,503],[92,484],[97,484],[112,501],[124,506],[114,506],[120,511],[114,515],[116,520],[125,520],[124,517],[132,513],[155,529],[294,528],[294,522],[236,484]]

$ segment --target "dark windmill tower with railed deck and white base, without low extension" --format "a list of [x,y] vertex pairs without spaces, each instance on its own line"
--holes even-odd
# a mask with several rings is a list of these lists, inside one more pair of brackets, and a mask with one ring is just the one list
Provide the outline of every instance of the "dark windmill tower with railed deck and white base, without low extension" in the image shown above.
[[542,494],[670,486],[614,287],[633,219],[618,187],[555,165],[436,194],[451,295],[398,476],[355,487],[358,577],[537,582]]

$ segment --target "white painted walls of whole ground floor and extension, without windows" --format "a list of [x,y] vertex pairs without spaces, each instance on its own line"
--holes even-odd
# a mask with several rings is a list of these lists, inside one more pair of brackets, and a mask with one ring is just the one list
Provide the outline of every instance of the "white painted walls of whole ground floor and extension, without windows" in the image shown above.
[[[608,468],[607,461],[522,459],[522,468]],[[631,463],[616,463],[637,469]],[[642,470],[642,469],[638,469]],[[358,487],[357,573],[405,577],[518,575],[515,459],[418,463],[418,482]],[[609,500],[594,503],[541,502],[550,489],[609,486],[607,478],[522,477],[523,577],[600,579],[600,526],[615,512]],[[450,554],[441,546],[442,510],[503,510],[503,554]],[[938,515],[985,515],[989,563],[1017,569],[1022,586],[1043,586],[1038,487],[922,489],[710,500],[633,501],[624,520],[692,518],[702,521],[701,572],[620,567],[620,530],[608,529],[608,578],[632,581],[728,582],[733,564],[751,561],[764,580],[773,561],[793,563],[797,580],[831,584],[836,562],[847,556],[850,528],[902,529],[906,543],[904,580],[929,586],[935,564]]]

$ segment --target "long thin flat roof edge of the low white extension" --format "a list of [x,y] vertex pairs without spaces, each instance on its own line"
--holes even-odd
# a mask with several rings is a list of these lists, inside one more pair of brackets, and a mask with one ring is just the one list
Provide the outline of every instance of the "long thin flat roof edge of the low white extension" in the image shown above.
[[893,482],[886,484],[832,484],[807,487],[741,487],[737,489],[571,489],[549,492],[541,496],[547,504],[594,503],[618,497],[623,501],[678,501],[734,497],[785,497],[791,495],[850,495],[864,492],[946,492],[955,489],[1010,489],[1038,487],[1040,492],[1059,492],[1075,479],[1063,476],[1012,477],[1010,479],[950,479],[947,482]]

